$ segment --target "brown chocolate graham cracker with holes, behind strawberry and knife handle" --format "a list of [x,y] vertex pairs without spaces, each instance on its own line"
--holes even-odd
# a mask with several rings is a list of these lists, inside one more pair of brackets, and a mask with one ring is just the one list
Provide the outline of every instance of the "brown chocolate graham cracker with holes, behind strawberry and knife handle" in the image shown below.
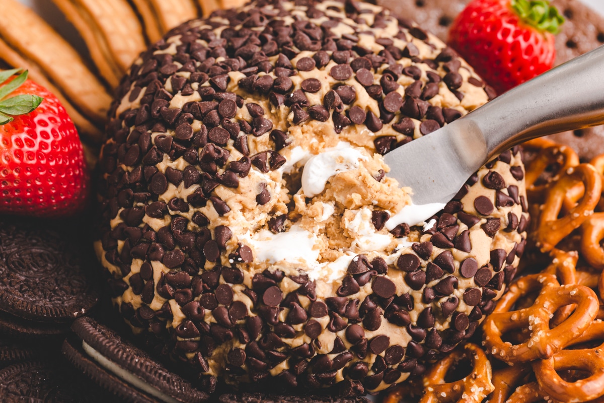
[[[449,26],[469,0],[377,0],[396,15],[413,16],[417,24],[446,40]],[[566,21],[556,36],[556,65],[604,44],[604,18],[579,0],[552,0]],[[604,126],[551,135],[588,161],[604,153]]]

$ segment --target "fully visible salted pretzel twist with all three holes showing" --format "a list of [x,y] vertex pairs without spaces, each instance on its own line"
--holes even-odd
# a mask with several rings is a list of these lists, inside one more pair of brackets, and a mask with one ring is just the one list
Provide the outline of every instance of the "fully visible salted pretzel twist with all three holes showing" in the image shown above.
[[[518,298],[539,290],[535,304],[511,311]],[[550,329],[550,318],[563,306],[576,304],[568,318]],[[553,274],[532,274],[521,277],[497,303],[484,321],[484,345],[493,356],[507,363],[525,363],[549,358],[582,334],[596,318],[599,301],[590,288],[579,285],[561,286]],[[504,342],[510,330],[528,328],[530,337],[519,344]]]

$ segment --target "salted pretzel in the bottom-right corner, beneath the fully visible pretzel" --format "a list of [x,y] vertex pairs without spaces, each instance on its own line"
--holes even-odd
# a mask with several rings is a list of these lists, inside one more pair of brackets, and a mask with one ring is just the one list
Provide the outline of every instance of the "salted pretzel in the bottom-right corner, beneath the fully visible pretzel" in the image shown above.
[[[604,323],[590,324],[570,346],[604,339]],[[569,347],[570,347],[569,346]],[[586,402],[604,395],[604,343],[593,349],[561,350],[548,359],[533,363],[539,386],[550,397],[567,403]],[[580,370],[590,376],[574,382],[565,381],[561,370]]]

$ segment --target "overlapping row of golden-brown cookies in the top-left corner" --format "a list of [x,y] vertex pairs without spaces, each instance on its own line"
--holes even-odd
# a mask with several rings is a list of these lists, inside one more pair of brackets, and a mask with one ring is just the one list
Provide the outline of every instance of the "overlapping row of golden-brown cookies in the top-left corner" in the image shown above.
[[28,69],[31,79],[59,97],[94,164],[111,94],[138,54],[181,22],[243,2],[53,0],[85,42],[88,55],[82,55],[30,8],[18,0],[0,0],[0,69]]

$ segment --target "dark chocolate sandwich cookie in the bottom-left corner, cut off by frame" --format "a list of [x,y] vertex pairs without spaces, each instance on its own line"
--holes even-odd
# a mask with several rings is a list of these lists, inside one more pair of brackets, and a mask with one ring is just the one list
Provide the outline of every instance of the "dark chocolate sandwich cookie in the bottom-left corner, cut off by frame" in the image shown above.
[[115,401],[61,357],[24,361],[0,369],[0,400],[3,403]]

